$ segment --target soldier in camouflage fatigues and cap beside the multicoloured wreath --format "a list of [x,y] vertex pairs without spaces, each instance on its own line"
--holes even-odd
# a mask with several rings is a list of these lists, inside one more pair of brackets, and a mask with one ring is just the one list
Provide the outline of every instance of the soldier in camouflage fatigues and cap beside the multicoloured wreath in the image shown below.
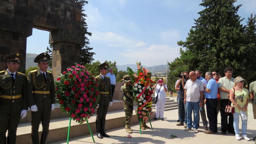
[[129,75],[124,75],[124,86],[122,87],[122,91],[124,93],[124,112],[125,112],[125,131],[128,133],[132,133],[133,129],[130,127],[130,121],[132,118],[133,111],[133,92],[132,92],[132,84],[131,78]]

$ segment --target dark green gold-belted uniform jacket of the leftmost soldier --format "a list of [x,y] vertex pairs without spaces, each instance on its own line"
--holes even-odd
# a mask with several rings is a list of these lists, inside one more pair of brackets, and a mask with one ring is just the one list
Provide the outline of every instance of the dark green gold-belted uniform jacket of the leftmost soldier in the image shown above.
[[0,113],[28,110],[25,74],[16,72],[14,84],[8,70],[0,72]]

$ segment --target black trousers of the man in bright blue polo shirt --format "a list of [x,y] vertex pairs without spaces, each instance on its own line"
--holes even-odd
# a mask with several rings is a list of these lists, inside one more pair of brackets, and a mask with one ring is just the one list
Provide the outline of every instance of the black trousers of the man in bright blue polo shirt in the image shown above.
[[218,99],[206,99],[206,111],[209,120],[209,129],[211,132],[217,132],[217,106]]

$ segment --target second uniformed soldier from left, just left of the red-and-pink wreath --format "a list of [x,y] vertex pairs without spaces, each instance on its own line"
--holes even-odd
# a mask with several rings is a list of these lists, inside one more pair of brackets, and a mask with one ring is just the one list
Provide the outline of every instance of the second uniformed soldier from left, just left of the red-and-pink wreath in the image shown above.
[[42,121],[42,134],[40,144],[46,144],[49,133],[51,110],[55,108],[54,79],[51,72],[47,71],[48,53],[40,53],[34,62],[38,63],[38,69],[28,73],[27,92],[28,106],[31,110],[32,143],[39,144],[38,128]]

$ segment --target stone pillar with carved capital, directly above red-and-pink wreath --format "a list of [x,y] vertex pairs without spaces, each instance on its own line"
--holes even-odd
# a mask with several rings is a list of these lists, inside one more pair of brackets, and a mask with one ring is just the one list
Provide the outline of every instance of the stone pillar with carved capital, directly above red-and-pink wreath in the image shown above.
[[68,67],[80,62],[80,46],[84,43],[84,34],[68,29],[57,29],[50,33],[52,44],[52,73],[56,78]]

